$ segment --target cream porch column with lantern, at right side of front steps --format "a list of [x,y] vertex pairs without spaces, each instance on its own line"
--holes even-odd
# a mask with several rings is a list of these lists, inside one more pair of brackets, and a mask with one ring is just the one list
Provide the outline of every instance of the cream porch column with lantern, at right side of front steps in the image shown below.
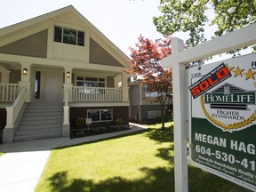
[[65,84],[63,84],[64,89],[64,102],[65,106],[63,114],[63,125],[62,125],[62,137],[69,137],[70,135],[70,125],[69,125],[69,106],[68,102],[72,101],[72,69],[71,67],[65,68]]

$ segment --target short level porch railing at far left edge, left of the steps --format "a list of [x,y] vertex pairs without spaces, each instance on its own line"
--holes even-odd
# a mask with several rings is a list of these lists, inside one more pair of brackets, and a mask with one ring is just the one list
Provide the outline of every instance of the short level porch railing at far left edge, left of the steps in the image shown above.
[[19,84],[0,84],[0,101],[14,101],[19,93]]

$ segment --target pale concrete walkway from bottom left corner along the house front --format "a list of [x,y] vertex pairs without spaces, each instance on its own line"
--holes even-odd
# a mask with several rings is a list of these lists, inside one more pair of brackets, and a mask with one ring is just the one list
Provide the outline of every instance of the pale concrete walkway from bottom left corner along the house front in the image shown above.
[[111,132],[72,140],[69,140],[69,138],[54,138],[2,144],[0,145],[0,151],[5,154],[0,156],[0,191],[34,191],[52,148],[102,140],[144,129],[140,124],[130,124],[130,127],[131,130],[123,132]]

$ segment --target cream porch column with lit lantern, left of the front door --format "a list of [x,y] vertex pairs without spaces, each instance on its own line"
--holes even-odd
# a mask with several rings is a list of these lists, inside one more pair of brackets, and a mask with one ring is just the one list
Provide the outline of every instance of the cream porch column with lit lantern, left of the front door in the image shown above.
[[25,102],[30,102],[30,92],[31,92],[31,63],[20,62],[21,64],[21,78],[20,78],[20,89],[22,87],[26,88],[26,100]]

